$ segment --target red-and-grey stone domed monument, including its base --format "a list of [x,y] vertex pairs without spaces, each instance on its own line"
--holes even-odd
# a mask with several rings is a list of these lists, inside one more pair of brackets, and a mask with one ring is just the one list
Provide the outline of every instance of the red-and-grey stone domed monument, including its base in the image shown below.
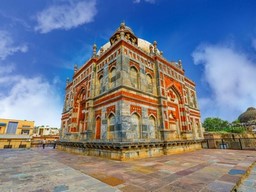
[[129,159],[197,149],[202,138],[195,83],[181,60],[167,61],[157,42],[124,23],[67,80],[63,149]]

